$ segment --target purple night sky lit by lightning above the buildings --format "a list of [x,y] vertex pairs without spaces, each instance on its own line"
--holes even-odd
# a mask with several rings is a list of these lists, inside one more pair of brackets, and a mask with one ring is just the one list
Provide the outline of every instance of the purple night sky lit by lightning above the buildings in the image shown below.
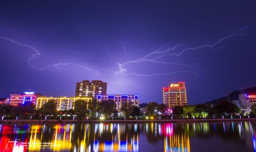
[[255,1],[1,1],[0,36],[0,98],[102,80],[162,103],[186,82],[196,104],[256,86]]

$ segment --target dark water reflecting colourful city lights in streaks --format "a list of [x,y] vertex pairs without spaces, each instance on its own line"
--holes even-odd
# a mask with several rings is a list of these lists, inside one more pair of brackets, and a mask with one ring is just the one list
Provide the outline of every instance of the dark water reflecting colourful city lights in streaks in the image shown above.
[[255,151],[256,122],[0,124],[0,151]]

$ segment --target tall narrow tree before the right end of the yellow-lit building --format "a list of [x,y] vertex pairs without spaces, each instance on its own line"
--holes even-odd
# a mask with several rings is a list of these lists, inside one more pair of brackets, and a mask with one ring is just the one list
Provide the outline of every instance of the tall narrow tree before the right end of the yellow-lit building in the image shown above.
[[83,120],[86,117],[87,113],[87,102],[84,100],[77,100],[75,102],[75,114],[77,115],[78,120]]

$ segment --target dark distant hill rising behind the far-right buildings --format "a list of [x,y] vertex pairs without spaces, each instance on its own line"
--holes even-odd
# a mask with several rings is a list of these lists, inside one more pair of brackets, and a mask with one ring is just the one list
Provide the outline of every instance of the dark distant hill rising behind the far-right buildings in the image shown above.
[[[245,93],[247,94],[256,94],[256,87],[252,87],[252,88],[247,88],[247,89],[244,89]],[[240,91],[239,90],[236,90],[236,91],[233,91],[231,94],[230,94],[230,100],[238,100],[238,95],[240,94]],[[204,103],[208,103],[208,104],[216,104],[219,100],[228,100],[228,97],[221,97],[221,98],[218,98],[218,99],[214,99],[212,101],[208,101],[208,102],[204,102]]]

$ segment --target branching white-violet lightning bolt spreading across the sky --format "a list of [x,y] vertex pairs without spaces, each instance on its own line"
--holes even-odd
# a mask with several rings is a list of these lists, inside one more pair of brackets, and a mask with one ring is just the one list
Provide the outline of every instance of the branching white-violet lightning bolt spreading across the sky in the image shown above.
[[[185,45],[180,44],[180,45],[176,45],[173,48],[169,48],[169,49],[164,49],[164,46],[162,46],[158,50],[153,51],[153,52],[151,52],[151,53],[149,53],[149,54],[147,54],[143,57],[140,57],[140,58],[137,58],[137,59],[134,59],[134,60],[130,60],[130,61],[125,61],[125,62],[122,62],[122,60],[127,55],[127,50],[126,50],[127,43],[125,41],[122,41],[121,43],[124,46],[124,48],[123,48],[124,49],[124,54],[120,58],[119,62],[114,61],[112,57],[109,57],[109,61],[108,61],[108,62],[114,62],[117,65],[118,70],[112,70],[110,68],[101,68],[101,67],[91,66],[91,65],[84,66],[84,65],[81,65],[81,64],[69,63],[69,62],[68,63],[56,63],[56,64],[48,65],[48,66],[45,66],[45,67],[36,67],[36,66],[31,64],[31,60],[35,59],[36,56],[40,55],[40,52],[38,50],[36,50],[34,47],[31,47],[31,46],[25,45],[25,44],[21,44],[17,41],[14,41],[14,40],[9,39],[9,38],[4,37],[4,36],[0,36],[0,38],[4,39],[4,40],[7,40],[7,41],[10,41],[14,44],[32,49],[34,51],[34,54],[32,55],[32,57],[28,58],[28,64],[29,64],[29,66],[31,66],[34,69],[44,70],[44,69],[49,68],[49,67],[58,67],[60,65],[73,65],[73,66],[77,66],[77,67],[80,67],[80,68],[85,68],[87,70],[95,71],[97,74],[99,74],[98,70],[105,70],[105,71],[114,73],[116,75],[121,74],[121,75],[135,75],[135,76],[150,77],[150,76],[157,76],[157,75],[171,75],[171,74],[178,73],[178,72],[186,72],[186,73],[192,73],[192,74],[195,74],[195,75],[200,75],[199,73],[196,72],[196,71],[199,71],[199,70],[196,67],[192,66],[192,65],[181,64],[179,62],[174,62],[174,61],[166,62],[162,58],[167,57],[167,56],[174,56],[174,57],[176,56],[176,57],[178,57],[178,56],[181,56],[182,54],[186,53],[187,51],[196,51],[196,50],[202,49],[202,48],[211,48],[211,49],[214,49],[214,50],[223,48],[222,46],[219,46],[221,43],[223,43],[223,41],[229,40],[229,39],[231,39],[231,37],[241,36],[241,35],[246,35],[246,34],[251,33],[251,32],[248,32],[247,29],[248,29],[248,27],[244,27],[244,28],[241,28],[241,29],[236,30],[236,31],[233,30],[234,32],[229,33],[228,36],[222,37],[221,39],[219,39],[218,41],[216,41],[216,42],[214,42],[210,45],[209,44],[204,44],[204,45],[197,46],[197,47],[184,48]],[[0,31],[9,31],[9,30],[4,30],[4,29],[1,30],[0,29]],[[67,51],[67,50],[65,50],[65,51]],[[103,58],[95,58],[90,54],[79,53],[79,52],[76,52],[76,51],[67,51],[67,52],[74,53],[74,54],[79,54],[79,55],[85,55],[85,56],[87,56],[91,59],[94,59],[94,60],[104,60],[104,61],[106,61]],[[176,53],[176,52],[178,52],[178,53]],[[125,59],[127,59],[127,58],[125,58]],[[191,70],[177,70],[177,71],[168,72],[168,73],[161,73],[160,72],[160,73],[151,73],[151,74],[140,74],[140,73],[135,73],[135,72],[130,72],[130,73],[127,72],[125,66],[129,66],[130,64],[138,65],[141,62],[144,62],[144,63],[147,63],[147,64],[151,63],[151,64],[176,65],[176,66],[187,67]]]

